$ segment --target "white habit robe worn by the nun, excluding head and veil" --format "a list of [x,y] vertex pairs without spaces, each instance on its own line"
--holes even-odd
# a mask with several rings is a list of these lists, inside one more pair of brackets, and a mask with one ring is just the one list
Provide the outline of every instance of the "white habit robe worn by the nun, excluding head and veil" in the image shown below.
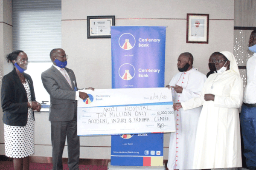
[[[205,101],[204,94],[214,94]],[[203,105],[195,139],[192,169],[241,167],[241,140],[238,108],[243,82],[234,71],[211,74],[201,96],[181,102],[184,110]]]

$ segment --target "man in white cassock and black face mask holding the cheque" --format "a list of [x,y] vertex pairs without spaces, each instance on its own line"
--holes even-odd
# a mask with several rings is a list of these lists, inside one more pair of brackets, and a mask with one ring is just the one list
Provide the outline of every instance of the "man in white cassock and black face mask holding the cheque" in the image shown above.
[[[186,52],[180,54],[177,67],[180,71],[167,85],[172,89],[173,102],[182,102],[200,96],[206,76],[192,66],[193,56]],[[175,111],[176,133],[171,133],[169,144],[169,170],[192,169],[195,135],[201,107],[188,111]]]

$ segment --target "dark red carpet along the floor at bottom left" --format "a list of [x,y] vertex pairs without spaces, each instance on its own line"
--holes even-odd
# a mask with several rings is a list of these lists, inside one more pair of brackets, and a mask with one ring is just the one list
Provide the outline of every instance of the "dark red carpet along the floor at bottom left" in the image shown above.
[[[108,170],[103,165],[79,165],[80,170]],[[14,170],[12,161],[0,161],[0,170]],[[30,163],[29,170],[52,170],[52,164]],[[67,164],[63,164],[63,170],[69,170]]]

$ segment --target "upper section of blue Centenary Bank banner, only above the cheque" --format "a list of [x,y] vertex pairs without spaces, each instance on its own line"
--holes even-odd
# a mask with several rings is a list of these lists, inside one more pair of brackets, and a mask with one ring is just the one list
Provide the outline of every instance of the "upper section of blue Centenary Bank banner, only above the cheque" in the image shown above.
[[112,26],[112,88],[164,87],[166,27]]

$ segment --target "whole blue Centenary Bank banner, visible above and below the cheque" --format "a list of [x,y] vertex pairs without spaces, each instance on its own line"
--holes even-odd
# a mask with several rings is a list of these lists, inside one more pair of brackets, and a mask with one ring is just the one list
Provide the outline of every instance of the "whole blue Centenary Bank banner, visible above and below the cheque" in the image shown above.
[[[112,88],[164,87],[166,27],[112,26]],[[111,165],[163,166],[163,133],[111,136]]]

